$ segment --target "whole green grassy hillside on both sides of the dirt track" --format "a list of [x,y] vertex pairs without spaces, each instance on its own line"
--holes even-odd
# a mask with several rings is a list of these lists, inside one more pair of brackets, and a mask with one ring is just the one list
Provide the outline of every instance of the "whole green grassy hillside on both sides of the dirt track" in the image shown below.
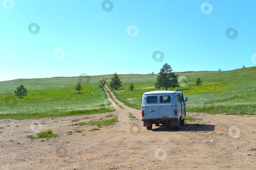
[[[256,67],[221,72],[182,72],[179,75],[188,76],[190,85],[168,90],[181,91],[188,97],[187,111],[256,114]],[[123,86],[113,92],[125,105],[140,109],[142,94],[156,90],[156,76],[120,74]],[[195,85],[198,76],[203,82],[199,86]],[[112,74],[2,81],[0,118],[39,118],[109,112],[110,110],[104,107],[107,96],[98,87],[98,81],[103,77],[110,79]],[[74,90],[79,80],[82,81],[82,94]],[[135,86],[132,91],[128,89],[131,83]],[[24,99],[14,96],[14,90],[21,84],[28,90]]]

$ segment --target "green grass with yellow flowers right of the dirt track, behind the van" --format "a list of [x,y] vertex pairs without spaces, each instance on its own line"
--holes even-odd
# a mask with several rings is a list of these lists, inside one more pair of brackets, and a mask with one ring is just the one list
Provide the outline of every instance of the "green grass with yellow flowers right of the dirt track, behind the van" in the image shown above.
[[[188,76],[190,85],[182,84],[168,90],[181,91],[188,97],[188,112],[256,114],[256,67],[231,71],[198,71],[178,73]],[[144,92],[156,90],[154,83],[157,75],[128,74],[119,75],[123,86],[114,90],[115,96],[129,107],[141,109],[141,96]],[[196,85],[197,77],[202,85]],[[108,82],[109,83],[109,82]],[[133,83],[135,89],[129,90]],[[159,89],[165,90],[165,89]]]

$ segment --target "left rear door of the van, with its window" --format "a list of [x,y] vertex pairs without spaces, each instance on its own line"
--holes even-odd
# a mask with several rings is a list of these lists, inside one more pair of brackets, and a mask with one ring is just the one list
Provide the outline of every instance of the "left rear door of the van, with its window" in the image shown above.
[[158,95],[146,95],[145,118],[159,118]]

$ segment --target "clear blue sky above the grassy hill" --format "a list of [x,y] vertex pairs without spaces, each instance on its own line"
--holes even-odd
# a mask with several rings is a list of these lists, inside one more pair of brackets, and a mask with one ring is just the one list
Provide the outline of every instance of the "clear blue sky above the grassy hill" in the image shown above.
[[[221,0],[3,0],[0,81],[157,73],[164,63],[176,72],[255,66],[255,6]],[[155,51],[160,53],[154,60]]]

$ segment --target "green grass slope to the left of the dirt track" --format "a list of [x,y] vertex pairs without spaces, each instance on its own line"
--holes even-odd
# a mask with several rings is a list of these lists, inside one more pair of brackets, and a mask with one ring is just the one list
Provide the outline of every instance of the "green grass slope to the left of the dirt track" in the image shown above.
[[[112,75],[105,75],[110,78]],[[98,87],[102,76],[17,79],[0,82],[0,118],[40,118],[111,112],[104,107],[106,93]],[[83,89],[74,90],[78,81]],[[14,95],[24,85],[27,96]]]

